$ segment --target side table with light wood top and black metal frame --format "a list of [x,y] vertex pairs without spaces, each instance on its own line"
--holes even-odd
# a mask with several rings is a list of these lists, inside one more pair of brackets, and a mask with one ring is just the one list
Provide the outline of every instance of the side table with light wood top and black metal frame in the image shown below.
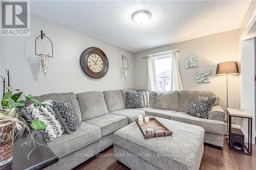
[[241,117],[241,118],[247,118],[248,119],[248,147],[246,147],[246,145],[244,145],[245,149],[247,150],[247,152],[241,152],[241,151],[236,151],[236,152],[240,152],[243,154],[247,154],[247,155],[252,155],[252,116],[240,109],[231,109],[231,108],[227,108],[227,114],[228,114],[228,136],[229,138],[226,138],[229,150],[231,151],[236,151],[233,150],[231,148],[231,143],[232,143],[232,139],[231,139],[231,125],[232,125],[232,117]]

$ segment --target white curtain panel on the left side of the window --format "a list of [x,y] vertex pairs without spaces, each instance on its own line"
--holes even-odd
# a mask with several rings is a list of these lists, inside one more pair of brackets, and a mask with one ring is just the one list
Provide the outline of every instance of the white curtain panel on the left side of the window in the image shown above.
[[147,69],[148,69],[148,90],[158,90],[155,59],[153,55],[147,56]]

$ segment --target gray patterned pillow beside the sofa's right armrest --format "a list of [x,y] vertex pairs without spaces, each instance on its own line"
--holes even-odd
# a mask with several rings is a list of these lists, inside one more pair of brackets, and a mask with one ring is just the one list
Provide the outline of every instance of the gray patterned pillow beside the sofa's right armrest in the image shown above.
[[197,95],[194,101],[188,107],[187,114],[200,118],[207,118],[208,113],[212,106],[214,106],[215,101],[216,98],[200,97]]

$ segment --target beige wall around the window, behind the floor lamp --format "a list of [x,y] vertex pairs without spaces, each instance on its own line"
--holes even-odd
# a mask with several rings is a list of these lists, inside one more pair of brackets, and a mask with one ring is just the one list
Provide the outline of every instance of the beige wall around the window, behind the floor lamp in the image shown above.
[[[147,89],[148,54],[180,49],[180,69],[185,90],[214,91],[220,96],[222,108],[226,108],[226,77],[216,76],[217,63],[239,60],[239,30],[227,31],[176,44],[165,45],[135,54],[136,88]],[[185,58],[193,54],[199,57],[199,67],[185,68]],[[211,70],[210,83],[196,83],[196,71]],[[240,76],[229,76],[229,107],[240,108]]]

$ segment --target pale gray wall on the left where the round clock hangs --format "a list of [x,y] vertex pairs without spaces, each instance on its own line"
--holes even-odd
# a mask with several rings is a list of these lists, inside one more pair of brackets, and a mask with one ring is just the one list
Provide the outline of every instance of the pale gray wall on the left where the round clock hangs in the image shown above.
[[[35,37],[43,30],[53,42],[54,57],[50,58],[48,74],[42,74],[40,58],[35,56]],[[104,31],[104,30],[102,30]],[[134,54],[110,43],[31,17],[31,36],[1,37],[1,73],[9,69],[11,86],[26,94],[51,92],[83,92],[132,88],[134,84]],[[85,77],[79,67],[79,57],[90,46],[99,47],[109,59],[109,71],[100,80]],[[122,55],[129,60],[126,82],[122,75]]]

